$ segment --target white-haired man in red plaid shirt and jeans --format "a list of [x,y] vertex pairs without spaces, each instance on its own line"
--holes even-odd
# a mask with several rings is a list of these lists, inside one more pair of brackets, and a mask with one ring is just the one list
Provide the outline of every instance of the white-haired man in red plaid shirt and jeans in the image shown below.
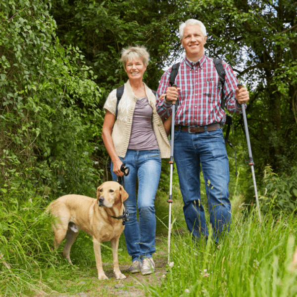
[[[161,117],[171,114],[172,101],[178,98],[174,127],[174,160],[184,200],[187,227],[195,238],[208,237],[204,208],[200,200],[200,163],[205,180],[206,196],[213,237],[229,231],[231,204],[229,200],[229,162],[221,127],[226,114],[221,107],[221,85],[213,59],[204,55],[206,29],[198,20],[189,19],[180,25],[180,39],[186,58],[180,63],[175,79],[177,88],[169,86],[171,68],[162,76],[156,109]],[[237,88],[237,79],[229,65],[224,96],[226,108],[241,113],[247,103],[246,88]]]

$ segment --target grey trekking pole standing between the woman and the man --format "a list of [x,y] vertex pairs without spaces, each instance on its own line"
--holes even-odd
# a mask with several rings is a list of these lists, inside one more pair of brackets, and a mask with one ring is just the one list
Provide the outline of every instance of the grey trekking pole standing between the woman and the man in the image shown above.
[[[172,85],[172,87],[177,88],[177,85]],[[170,150],[170,184],[169,184],[169,198],[167,202],[169,203],[169,228],[168,228],[168,265],[170,260],[170,236],[171,236],[171,203],[172,200],[172,178],[173,178],[173,145],[174,145],[174,118],[175,118],[175,101],[172,101],[172,115],[171,115],[171,150]]]

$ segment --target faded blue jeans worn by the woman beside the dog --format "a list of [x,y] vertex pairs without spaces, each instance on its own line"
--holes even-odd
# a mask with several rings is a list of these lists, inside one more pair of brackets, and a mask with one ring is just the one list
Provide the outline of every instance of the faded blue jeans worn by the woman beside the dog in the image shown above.
[[[129,221],[125,224],[124,234],[127,250],[132,256],[132,262],[150,258],[156,251],[156,217],[154,199],[161,174],[161,156],[158,149],[131,150],[128,149],[125,158],[120,160],[130,167],[130,173],[124,177],[125,190],[129,197],[126,205]],[[111,174],[114,181],[117,176]],[[138,177],[138,196],[136,198],[136,180]],[[137,221],[137,208],[139,222]]]

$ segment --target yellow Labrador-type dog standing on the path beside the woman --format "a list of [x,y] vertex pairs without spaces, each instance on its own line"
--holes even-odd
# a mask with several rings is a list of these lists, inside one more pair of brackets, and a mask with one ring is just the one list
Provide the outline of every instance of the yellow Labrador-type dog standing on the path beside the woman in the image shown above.
[[[127,192],[117,182],[105,182],[97,189],[97,199],[82,195],[65,195],[48,206],[48,211],[55,218],[52,223],[54,247],[57,248],[66,236],[63,256],[71,262],[70,248],[79,230],[93,237],[98,279],[107,280],[102,268],[100,243],[110,241],[113,257],[113,273],[116,279],[125,279],[118,263],[119,237],[124,230],[122,215],[123,202]],[[118,218],[120,217],[120,218]]]

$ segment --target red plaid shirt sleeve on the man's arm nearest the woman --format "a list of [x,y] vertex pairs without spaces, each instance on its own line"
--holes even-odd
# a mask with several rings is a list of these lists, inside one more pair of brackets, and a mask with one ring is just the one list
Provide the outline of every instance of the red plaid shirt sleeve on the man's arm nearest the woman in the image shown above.
[[171,115],[172,103],[167,103],[166,100],[159,99],[162,94],[166,94],[166,90],[169,87],[169,78],[171,73],[171,67],[164,72],[161,77],[160,84],[156,94],[156,110],[160,117],[169,117]]

